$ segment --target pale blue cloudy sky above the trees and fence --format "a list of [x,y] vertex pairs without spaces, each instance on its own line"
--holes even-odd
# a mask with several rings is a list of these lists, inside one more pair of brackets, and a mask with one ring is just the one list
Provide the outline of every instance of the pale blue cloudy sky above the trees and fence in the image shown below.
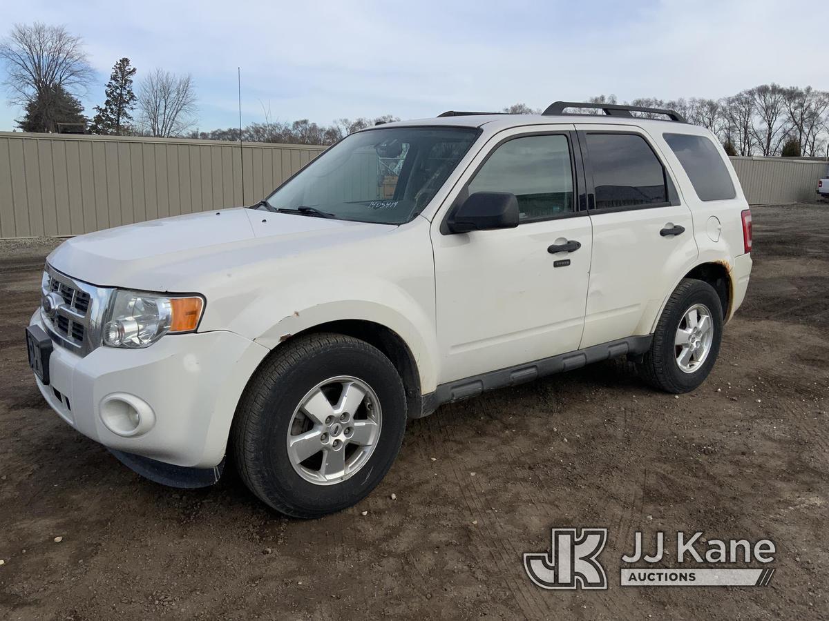
[[[238,124],[237,66],[245,124],[266,110],[330,123],[594,94],[717,98],[772,81],[829,90],[826,34],[811,30],[825,0],[0,0],[0,15],[2,35],[41,21],[83,37],[99,75],[87,113],[122,56],[137,80],[190,73],[202,130]],[[0,130],[11,130],[21,111],[5,95]]]

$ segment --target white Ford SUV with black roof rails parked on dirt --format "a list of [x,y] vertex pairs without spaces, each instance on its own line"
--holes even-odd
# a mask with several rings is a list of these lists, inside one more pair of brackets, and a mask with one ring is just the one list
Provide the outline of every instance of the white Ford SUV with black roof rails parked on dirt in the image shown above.
[[250,208],[70,239],[27,329],[38,387],[148,478],[232,455],[301,517],[365,497],[441,403],[622,355],[696,388],[749,282],[739,181],[675,112],[565,113],[589,107],[384,124]]

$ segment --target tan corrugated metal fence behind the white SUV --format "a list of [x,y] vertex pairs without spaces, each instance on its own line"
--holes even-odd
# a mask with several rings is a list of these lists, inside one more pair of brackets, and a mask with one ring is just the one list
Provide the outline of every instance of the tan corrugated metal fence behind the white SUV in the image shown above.
[[[0,238],[77,235],[246,205],[325,147],[0,132]],[[732,157],[749,203],[815,200],[826,162]],[[367,183],[367,181],[366,181]]]

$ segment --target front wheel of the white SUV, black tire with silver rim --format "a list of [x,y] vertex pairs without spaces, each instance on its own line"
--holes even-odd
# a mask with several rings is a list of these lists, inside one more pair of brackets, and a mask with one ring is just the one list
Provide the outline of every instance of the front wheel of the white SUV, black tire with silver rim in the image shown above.
[[[329,382],[332,378],[335,381]],[[340,397],[337,386],[342,386]],[[342,429],[337,429],[336,412],[331,426],[317,422],[322,415],[307,413],[320,411],[318,405],[311,407],[322,403],[318,392],[324,393],[332,407],[339,399],[343,411],[350,409],[344,403],[347,390],[357,397],[360,392],[366,396],[356,412],[346,412],[352,419],[343,423]],[[300,407],[303,403],[306,405]],[[358,420],[360,416],[365,418]],[[371,426],[372,416],[376,428]],[[344,436],[348,424],[352,425],[351,441],[362,433],[376,433],[373,443],[350,444]],[[405,426],[404,387],[390,360],[364,341],[324,333],[298,337],[265,359],[240,399],[230,442],[241,479],[262,502],[293,517],[321,517],[358,503],[380,483],[400,450]],[[322,451],[298,463],[300,451],[289,449],[288,442],[318,432],[322,434],[317,438]],[[332,476],[324,472],[331,469],[328,455],[332,460],[340,455],[334,448],[335,438],[342,440],[342,455],[351,450],[351,457],[344,458],[345,470],[332,469],[342,476],[323,481]],[[322,440],[328,444],[322,445]],[[307,450],[316,448],[316,444],[307,446]],[[351,474],[347,471],[349,459],[355,462],[354,467],[359,465]],[[315,474],[317,464],[320,469]]]

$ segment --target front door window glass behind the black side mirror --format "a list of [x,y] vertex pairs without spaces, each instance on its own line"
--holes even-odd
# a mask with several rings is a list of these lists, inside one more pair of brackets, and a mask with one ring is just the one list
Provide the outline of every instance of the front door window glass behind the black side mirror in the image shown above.
[[469,194],[511,192],[520,222],[574,210],[570,146],[562,134],[513,138],[497,147],[469,182]]

